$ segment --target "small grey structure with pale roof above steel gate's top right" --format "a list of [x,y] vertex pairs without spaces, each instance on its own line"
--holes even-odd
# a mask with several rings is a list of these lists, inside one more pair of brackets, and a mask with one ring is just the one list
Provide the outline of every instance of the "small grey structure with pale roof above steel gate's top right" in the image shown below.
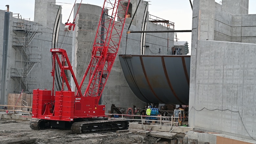
[[174,55],[187,55],[188,54],[187,41],[174,41],[173,54]]

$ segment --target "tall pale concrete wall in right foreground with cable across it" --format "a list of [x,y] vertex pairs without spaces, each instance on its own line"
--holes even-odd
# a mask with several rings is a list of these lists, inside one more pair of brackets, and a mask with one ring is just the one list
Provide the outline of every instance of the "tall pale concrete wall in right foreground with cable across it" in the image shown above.
[[[213,5],[217,7],[215,11],[211,8]],[[251,27],[243,27],[244,21],[240,23],[240,15],[231,17],[219,11],[219,6],[214,4],[214,0],[193,1],[189,125],[211,132],[255,139],[256,45],[213,41],[216,26],[213,27],[212,23],[214,14],[215,19],[220,21],[218,31],[229,35],[230,28],[227,25],[238,25],[237,29],[241,26],[242,35],[254,36],[245,30],[256,28],[254,15],[241,16],[250,17],[245,23]],[[224,30],[227,27],[228,31]]]

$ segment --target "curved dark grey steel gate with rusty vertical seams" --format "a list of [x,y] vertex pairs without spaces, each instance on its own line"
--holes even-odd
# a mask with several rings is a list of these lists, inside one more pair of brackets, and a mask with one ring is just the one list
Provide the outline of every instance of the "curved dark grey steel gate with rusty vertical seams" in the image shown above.
[[119,60],[140,100],[188,105],[190,55],[119,55]]

